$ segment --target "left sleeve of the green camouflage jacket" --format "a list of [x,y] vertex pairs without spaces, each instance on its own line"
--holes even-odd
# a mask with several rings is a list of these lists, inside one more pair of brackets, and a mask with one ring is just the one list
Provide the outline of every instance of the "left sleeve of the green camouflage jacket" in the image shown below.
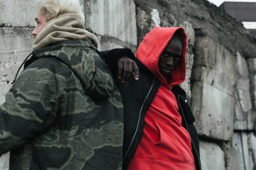
[[0,106],[0,155],[44,131],[55,119],[56,74],[49,69],[24,70]]

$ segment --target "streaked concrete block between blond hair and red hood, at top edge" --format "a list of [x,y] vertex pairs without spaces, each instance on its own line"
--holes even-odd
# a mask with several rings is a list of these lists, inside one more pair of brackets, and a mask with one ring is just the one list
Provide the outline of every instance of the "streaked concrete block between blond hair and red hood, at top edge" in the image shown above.
[[135,4],[132,0],[87,0],[84,11],[85,27],[92,32],[137,45]]

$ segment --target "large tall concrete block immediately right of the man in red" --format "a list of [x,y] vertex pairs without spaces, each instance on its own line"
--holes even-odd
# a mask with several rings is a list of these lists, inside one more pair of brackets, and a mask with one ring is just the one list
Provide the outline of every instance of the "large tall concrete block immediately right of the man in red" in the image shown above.
[[200,135],[230,140],[235,111],[236,58],[209,37],[195,41],[191,109]]

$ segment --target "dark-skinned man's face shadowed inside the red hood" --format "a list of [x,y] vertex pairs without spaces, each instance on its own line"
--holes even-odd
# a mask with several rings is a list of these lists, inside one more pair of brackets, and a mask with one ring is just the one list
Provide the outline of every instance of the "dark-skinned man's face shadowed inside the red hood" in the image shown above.
[[182,41],[178,36],[172,37],[158,60],[158,69],[161,75],[169,81],[169,75],[182,57]]

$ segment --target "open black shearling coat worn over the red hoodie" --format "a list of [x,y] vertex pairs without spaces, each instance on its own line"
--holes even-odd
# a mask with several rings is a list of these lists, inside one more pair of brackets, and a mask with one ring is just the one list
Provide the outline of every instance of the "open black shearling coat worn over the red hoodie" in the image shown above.
[[[134,152],[142,137],[144,128],[144,116],[153,101],[156,92],[160,86],[160,81],[137,60],[130,49],[113,49],[100,52],[107,65],[113,71],[116,86],[120,91],[124,105],[124,144],[123,144],[123,170],[127,169],[133,157]],[[129,80],[127,83],[117,79],[117,61],[123,55],[135,60],[140,69],[140,78],[138,81]],[[143,88],[141,88],[143,87]],[[195,117],[188,105],[186,92],[179,86],[172,87],[172,93],[175,95],[180,115],[182,117],[182,126],[188,131],[191,137],[191,145],[195,158],[196,169],[201,170],[199,155],[199,139],[194,126]]]

